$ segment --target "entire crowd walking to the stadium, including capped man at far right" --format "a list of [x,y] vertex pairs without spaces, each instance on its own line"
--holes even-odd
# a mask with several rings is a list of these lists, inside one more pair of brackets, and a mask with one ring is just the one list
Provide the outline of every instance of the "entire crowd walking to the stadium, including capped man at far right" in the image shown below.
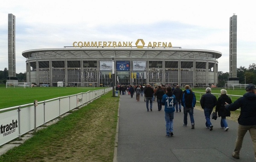
[[[144,95],[144,101],[146,103],[146,110],[152,112],[153,102],[157,100],[157,110],[161,111],[162,106],[164,106],[164,118],[166,121],[166,137],[174,135],[173,130],[173,120],[175,112],[181,112],[181,106],[183,106],[183,126],[186,127],[188,124],[187,116],[189,114],[191,128],[195,129],[195,119],[194,119],[194,107],[196,103],[195,93],[189,85],[185,86],[185,90],[181,90],[180,86],[175,87],[165,87],[164,85],[159,85],[157,87],[152,87],[147,84],[145,87],[138,86],[118,86],[116,90],[119,90],[120,95],[125,95],[125,91],[128,95],[133,98],[134,93],[136,93],[136,100],[140,101],[140,97]],[[253,141],[253,149],[255,154],[256,162],[256,87],[253,84],[248,84],[246,87],[246,93],[243,97],[232,103],[230,97],[227,95],[226,89],[221,89],[221,95],[218,99],[211,93],[211,88],[207,87],[205,89],[205,94],[200,98],[201,108],[204,110],[204,117],[206,119],[205,126],[210,131],[213,130],[213,125],[210,121],[212,112],[215,108],[215,113],[217,113],[220,120],[220,128],[224,131],[228,131],[228,123],[226,117],[230,117],[230,111],[235,111],[236,109],[241,109],[240,116],[238,118],[239,127],[236,138],[235,150],[232,156],[239,159],[239,153],[242,147],[242,142],[244,135],[249,131],[251,139]]]

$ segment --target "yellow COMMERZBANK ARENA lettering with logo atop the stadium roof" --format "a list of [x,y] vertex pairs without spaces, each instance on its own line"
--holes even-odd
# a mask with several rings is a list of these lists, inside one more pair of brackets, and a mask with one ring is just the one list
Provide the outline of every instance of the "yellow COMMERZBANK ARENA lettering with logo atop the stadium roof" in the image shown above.
[[137,39],[135,45],[133,42],[73,42],[73,47],[172,47],[171,42],[148,42],[145,44],[143,39]]

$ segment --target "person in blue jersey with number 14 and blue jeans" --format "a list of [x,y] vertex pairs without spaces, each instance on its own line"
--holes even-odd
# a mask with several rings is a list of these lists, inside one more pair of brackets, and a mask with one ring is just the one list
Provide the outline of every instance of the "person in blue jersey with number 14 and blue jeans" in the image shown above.
[[172,88],[166,88],[167,93],[163,95],[162,105],[164,105],[164,118],[166,120],[166,137],[173,136],[173,118],[175,112],[175,95],[172,94]]

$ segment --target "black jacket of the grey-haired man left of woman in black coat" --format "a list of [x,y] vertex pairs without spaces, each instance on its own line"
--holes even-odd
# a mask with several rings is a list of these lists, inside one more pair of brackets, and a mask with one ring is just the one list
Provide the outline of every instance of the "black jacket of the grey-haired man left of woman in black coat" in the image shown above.
[[202,95],[200,103],[203,109],[213,109],[217,105],[217,98],[211,93],[206,93]]

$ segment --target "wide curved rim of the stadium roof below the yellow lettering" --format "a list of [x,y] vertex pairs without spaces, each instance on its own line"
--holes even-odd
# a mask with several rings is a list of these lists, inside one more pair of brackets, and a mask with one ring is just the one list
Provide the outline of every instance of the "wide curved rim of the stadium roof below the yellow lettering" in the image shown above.
[[70,47],[33,49],[22,52],[25,58],[70,58],[70,59],[218,59],[221,53],[213,50],[181,48],[122,48],[122,47]]

